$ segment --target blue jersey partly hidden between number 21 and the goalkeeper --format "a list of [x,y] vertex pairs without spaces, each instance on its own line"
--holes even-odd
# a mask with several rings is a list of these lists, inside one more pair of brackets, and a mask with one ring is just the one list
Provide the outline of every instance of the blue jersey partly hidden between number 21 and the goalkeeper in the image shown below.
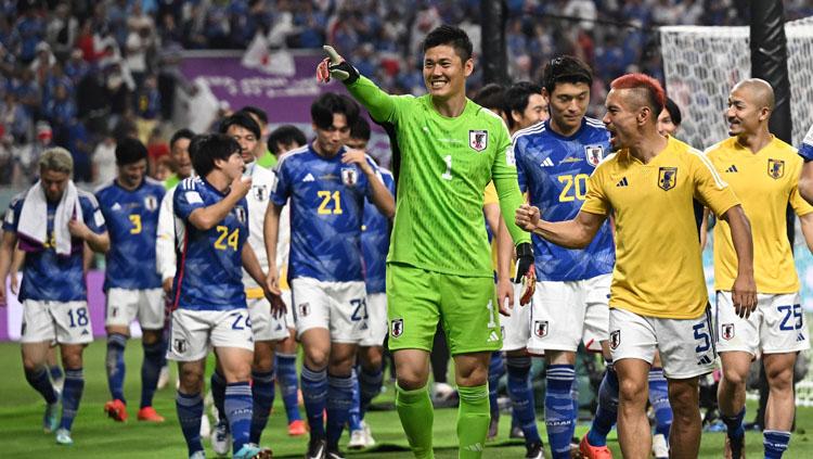
[[[396,180],[385,168],[382,173],[384,184],[396,195]],[[364,256],[364,284],[367,294],[386,291],[387,253],[389,252],[389,219],[370,200],[364,203],[364,226],[361,227],[361,252]]]

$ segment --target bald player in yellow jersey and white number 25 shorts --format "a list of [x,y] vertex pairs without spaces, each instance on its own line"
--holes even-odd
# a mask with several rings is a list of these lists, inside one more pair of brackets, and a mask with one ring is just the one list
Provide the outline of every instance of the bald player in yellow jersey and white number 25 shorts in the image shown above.
[[[751,360],[762,354],[770,387],[763,431],[765,458],[780,458],[793,424],[793,365],[799,352],[810,348],[786,211],[790,205],[809,226],[813,206],[797,189],[802,158],[769,130],[773,110],[774,91],[767,81],[739,81],[728,95],[725,112],[731,137],[706,151],[741,200],[754,240],[758,304],[752,311],[737,314],[732,304],[737,275],[732,230],[725,221],[714,227],[714,317],[723,367],[718,400],[727,426],[726,457],[733,458],[745,457],[743,418]],[[804,234],[806,238],[809,232]]]

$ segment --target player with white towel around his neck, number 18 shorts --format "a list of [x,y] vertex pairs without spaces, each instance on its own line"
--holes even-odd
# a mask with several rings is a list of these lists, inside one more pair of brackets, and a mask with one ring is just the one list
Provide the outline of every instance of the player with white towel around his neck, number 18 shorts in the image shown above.
[[[70,180],[74,160],[62,148],[48,149],[39,160],[39,180],[15,196],[3,219],[0,279],[5,279],[14,247],[25,252],[23,284],[23,368],[28,383],[46,399],[42,428],[56,431],[56,443],[72,445],[70,426],[79,409],[85,377],[82,350],[93,341],[82,271],[85,243],[93,251],[109,248],[104,217],[92,194]],[[5,305],[0,289],[0,305]],[[60,345],[65,385],[60,394],[46,366],[51,342]]]

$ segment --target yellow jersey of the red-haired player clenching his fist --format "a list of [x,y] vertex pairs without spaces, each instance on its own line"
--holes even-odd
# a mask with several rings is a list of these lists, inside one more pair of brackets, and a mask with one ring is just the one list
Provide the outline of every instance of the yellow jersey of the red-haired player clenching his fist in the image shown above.
[[718,215],[738,204],[702,153],[671,137],[648,164],[622,150],[596,167],[581,209],[614,214],[610,307],[669,319],[705,313],[695,200]]

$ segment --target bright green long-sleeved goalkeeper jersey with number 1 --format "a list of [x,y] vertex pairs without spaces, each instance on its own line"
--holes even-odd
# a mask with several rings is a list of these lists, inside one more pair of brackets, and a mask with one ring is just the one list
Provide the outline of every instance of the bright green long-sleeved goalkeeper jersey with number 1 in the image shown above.
[[530,242],[514,224],[522,195],[502,118],[470,100],[460,116],[447,118],[430,95],[389,95],[363,76],[347,88],[374,119],[392,125],[401,152],[388,263],[492,277],[482,215],[492,179],[514,243]]

